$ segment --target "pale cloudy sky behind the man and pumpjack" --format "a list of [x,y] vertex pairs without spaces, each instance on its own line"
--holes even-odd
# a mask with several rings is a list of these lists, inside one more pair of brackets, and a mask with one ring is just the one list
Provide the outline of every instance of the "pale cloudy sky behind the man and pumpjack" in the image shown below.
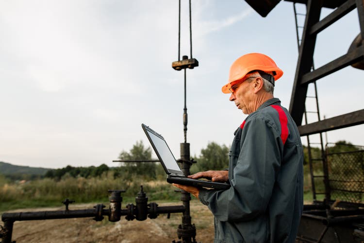
[[[185,0],[181,56],[190,53],[187,11]],[[199,67],[187,69],[187,142],[194,156],[210,141],[229,146],[246,117],[221,92],[232,62],[248,52],[271,56],[284,71],[275,96],[288,108],[298,48],[291,2],[263,18],[242,0],[193,0],[192,14]],[[0,30],[0,161],[116,166],[111,161],[137,140],[149,145],[141,123],[179,157],[183,71],[171,68],[178,0],[0,0]],[[358,34],[354,10],[318,35],[315,67],[345,54]],[[317,82],[322,117],[363,109],[362,74],[347,67]],[[364,145],[363,128],[327,137]]]

